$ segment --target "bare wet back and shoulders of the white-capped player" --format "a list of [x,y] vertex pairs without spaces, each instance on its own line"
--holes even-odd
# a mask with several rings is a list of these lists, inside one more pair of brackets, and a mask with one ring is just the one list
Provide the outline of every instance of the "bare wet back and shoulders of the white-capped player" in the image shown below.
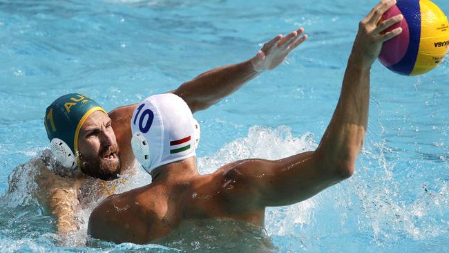
[[234,164],[184,182],[153,182],[111,196],[94,209],[88,234],[115,243],[149,243],[187,220],[232,218],[262,226],[265,207],[240,205],[233,198],[239,191],[228,178]]

